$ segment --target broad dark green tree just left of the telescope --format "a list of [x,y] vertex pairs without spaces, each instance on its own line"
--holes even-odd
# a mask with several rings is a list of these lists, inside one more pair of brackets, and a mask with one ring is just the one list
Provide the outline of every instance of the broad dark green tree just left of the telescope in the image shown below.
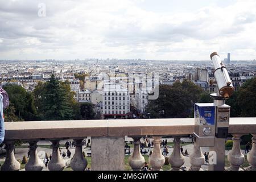
[[203,90],[191,81],[175,82],[174,85],[159,85],[159,97],[150,100],[146,107],[151,118],[191,117],[193,105]]

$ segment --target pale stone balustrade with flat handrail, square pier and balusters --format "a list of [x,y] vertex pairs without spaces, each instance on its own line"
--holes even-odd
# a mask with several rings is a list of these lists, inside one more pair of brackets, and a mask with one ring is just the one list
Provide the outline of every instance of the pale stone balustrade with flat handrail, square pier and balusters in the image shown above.
[[[71,159],[71,168],[75,171],[84,171],[88,162],[82,155],[82,140],[86,137],[91,137],[92,170],[123,170],[125,136],[134,140],[133,154],[129,158],[131,169],[140,170],[144,165],[144,157],[140,151],[140,139],[150,136],[154,139],[154,148],[148,162],[152,170],[159,171],[162,170],[166,161],[160,149],[160,142],[162,137],[167,136],[174,138],[174,150],[168,159],[171,170],[179,171],[185,162],[184,156],[180,152],[180,138],[193,134],[195,125],[193,118],[181,118],[6,122],[5,127],[7,152],[1,170],[20,169],[20,164],[14,155],[15,140],[22,140],[30,144],[30,158],[25,169],[42,170],[43,163],[39,159],[36,144],[39,140],[49,140],[52,143],[52,159],[48,163],[48,169],[61,171],[65,168],[65,162],[59,153],[59,142],[63,139],[73,139],[76,148]],[[228,154],[230,167],[226,169],[255,170],[256,118],[230,118],[229,133],[233,135],[233,148]],[[247,154],[250,166],[241,168],[245,156],[240,150],[240,138],[242,135],[249,133],[253,135],[253,147]],[[201,147],[197,143],[194,144],[193,153],[189,155],[189,159],[191,163],[190,170],[201,170],[205,158],[201,152]]]

